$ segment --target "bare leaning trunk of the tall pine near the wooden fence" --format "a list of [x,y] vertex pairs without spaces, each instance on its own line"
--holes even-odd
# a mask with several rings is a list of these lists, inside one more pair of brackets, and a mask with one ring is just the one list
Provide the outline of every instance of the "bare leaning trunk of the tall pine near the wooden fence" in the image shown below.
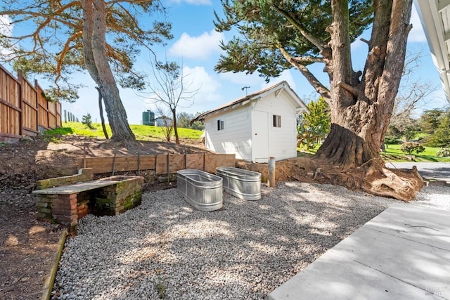
[[106,9],[104,0],[83,0],[83,53],[86,68],[96,81],[105,101],[110,122],[112,141],[132,143],[136,140],[131,131],[127,112],[120,100],[119,89],[106,56]]

